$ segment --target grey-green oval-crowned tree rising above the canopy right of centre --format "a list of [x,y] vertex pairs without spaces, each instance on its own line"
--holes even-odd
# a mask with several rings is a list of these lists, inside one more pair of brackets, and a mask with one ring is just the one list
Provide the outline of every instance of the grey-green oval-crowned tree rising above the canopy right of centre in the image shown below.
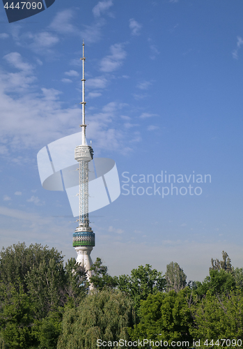
[[187,285],[187,275],[176,262],[171,262],[166,265],[165,278],[167,291],[175,290],[175,292],[178,292]]

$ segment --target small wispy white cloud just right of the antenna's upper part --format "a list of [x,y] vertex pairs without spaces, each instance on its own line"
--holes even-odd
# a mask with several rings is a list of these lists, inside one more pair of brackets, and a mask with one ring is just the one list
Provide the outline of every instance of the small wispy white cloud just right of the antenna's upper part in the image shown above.
[[123,50],[123,44],[121,43],[111,45],[110,51],[111,54],[104,57],[100,62],[100,70],[106,73],[111,73],[112,71],[118,69],[123,64],[123,60],[127,56],[127,52]]

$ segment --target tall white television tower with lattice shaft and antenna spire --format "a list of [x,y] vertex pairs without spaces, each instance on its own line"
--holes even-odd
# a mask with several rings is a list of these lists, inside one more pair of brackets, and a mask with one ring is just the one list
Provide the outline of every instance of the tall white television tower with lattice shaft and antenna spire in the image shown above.
[[85,124],[85,79],[84,79],[84,40],[83,40],[83,78],[82,82],[82,142],[75,148],[75,160],[79,162],[79,226],[72,235],[72,246],[77,251],[77,263],[86,269],[88,280],[91,278],[91,251],[95,246],[95,233],[89,226],[88,219],[88,163],[93,159],[93,149],[86,142]]

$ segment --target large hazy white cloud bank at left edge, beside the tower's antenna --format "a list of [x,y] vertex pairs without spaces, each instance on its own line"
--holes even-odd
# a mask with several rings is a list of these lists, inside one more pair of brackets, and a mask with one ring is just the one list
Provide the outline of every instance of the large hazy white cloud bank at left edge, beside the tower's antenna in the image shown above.
[[[15,64],[13,56],[11,58]],[[29,74],[29,66],[22,66],[20,60],[17,64],[27,71],[0,72],[0,114],[3,116],[0,121],[0,150],[4,155],[10,149],[15,149],[15,161],[19,158],[16,151],[20,144],[21,148],[38,149],[40,144],[43,146],[63,135],[74,133],[74,123],[79,113],[77,107],[61,107],[58,101],[61,91],[43,88],[35,94],[32,90],[28,92],[33,87],[35,77]],[[17,94],[12,96],[8,91]],[[19,161],[23,161],[23,158],[19,158]]]

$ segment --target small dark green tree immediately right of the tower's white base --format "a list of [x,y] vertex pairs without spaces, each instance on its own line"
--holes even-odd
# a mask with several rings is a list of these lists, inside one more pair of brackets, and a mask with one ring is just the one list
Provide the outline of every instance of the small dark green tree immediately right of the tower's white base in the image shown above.
[[91,267],[91,283],[96,290],[114,288],[116,286],[116,282],[113,277],[107,273],[107,269],[105,265],[102,265],[101,259],[96,258],[95,263]]

